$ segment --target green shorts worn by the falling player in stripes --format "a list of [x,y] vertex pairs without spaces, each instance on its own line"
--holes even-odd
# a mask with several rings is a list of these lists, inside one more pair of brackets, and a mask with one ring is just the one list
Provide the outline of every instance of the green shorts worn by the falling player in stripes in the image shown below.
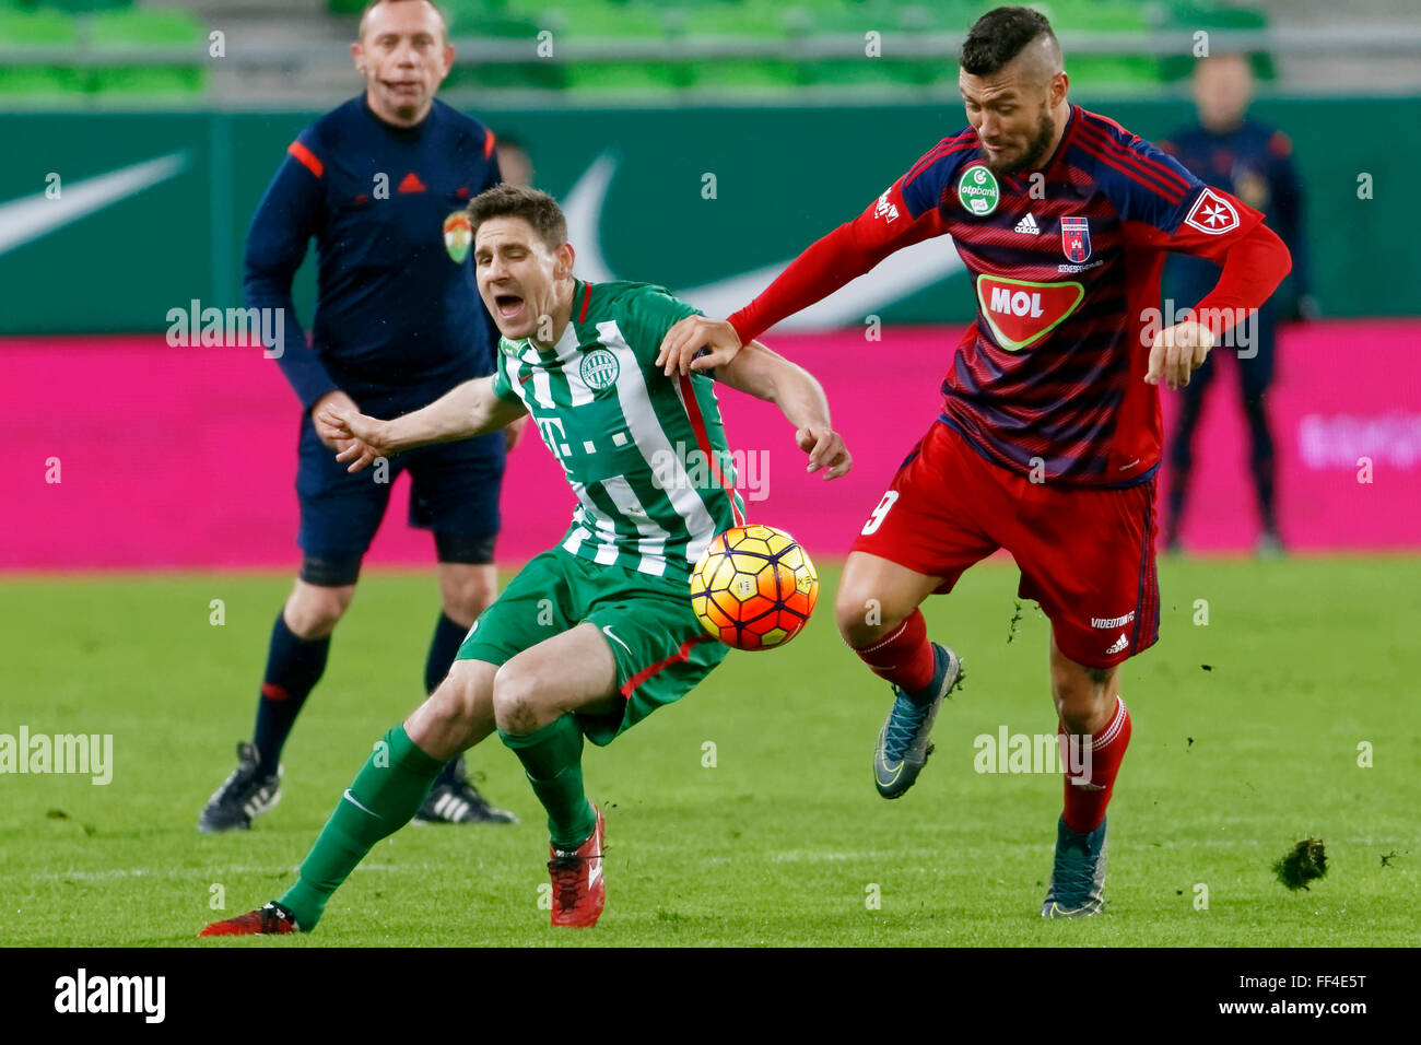
[[625,700],[621,714],[577,717],[597,745],[675,704],[726,654],[691,611],[686,582],[601,566],[554,547],[529,560],[479,614],[458,660],[503,664],[583,621],[607,638]]

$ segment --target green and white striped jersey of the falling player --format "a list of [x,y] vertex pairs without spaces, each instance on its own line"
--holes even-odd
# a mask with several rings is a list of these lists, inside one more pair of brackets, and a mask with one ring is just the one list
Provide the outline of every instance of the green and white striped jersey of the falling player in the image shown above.
[[583,283],[557,344],[499,340],[493,391],[522,402],[577,495],[563,547],[668,580],[743,519],[715,382],[655,365],[696,309],[647,283]]

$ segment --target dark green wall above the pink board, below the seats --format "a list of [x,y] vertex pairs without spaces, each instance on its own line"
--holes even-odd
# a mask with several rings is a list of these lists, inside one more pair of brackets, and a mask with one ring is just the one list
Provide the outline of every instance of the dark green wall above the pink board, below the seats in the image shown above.
[[[1147,138],[1191,117],[1181,102],[1098,108]],[[0,334],[155,331],[190,299],[240,304],[247,222],[287,144],[315,115],[0,115]],[[961,108],[934,105],[477,115],[526,142],[539,186],[558,196],[610,154],[617,169],[600,219],[607,263],[621,277],[671,287],[789,260],[965,124]],[[1421,125],[1421,100],[1273,100],[1253,115],[1293,139],[1323,314],[1421,314],[1421,250],[1403,205],[1421,169],[1421,136],[1403,129]],[[72,205],[85,181],[175,154],[183,158],[179,173],[37,237],[3,209],[30,198],[33,220],[50,175]],[[703,195],[708,173],[715,199]],[[1368,199],[1358,196],[1363,175]],[[313,290],[308,259],[297,282],[303,318]],[[938,284],[878,313],[887,323],[965,321],[972,297]]]

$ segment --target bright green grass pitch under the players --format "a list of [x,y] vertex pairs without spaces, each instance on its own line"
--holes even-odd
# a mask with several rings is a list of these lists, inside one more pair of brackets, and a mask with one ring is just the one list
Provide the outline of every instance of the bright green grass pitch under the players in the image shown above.
[[[588,748],[608,823],[591,933],[549,927],[541,810],[486,742],[470,768],[522,825],[406,827],[315,933],[203,945],[1415,943],[1421,560],[1161,563],[1161,641],[1124,670],[1134,738],[1110,809],[1108,913],[1080,923],[1039,916],[1060,778],[975,768],[976,736],[1056,727],[1047,623],[1026,604],[1012,624],[1015,569],[985,563],[925,607],[969,678],[897,802],[870,763],[888,688],[840,645],[826,582],[790,647],[732,653],[678,705]],[[205,923],[284,890],[371,744],[421,700],[438,611],[432,573],[368,574],[287,745],[281,803],[252,832],[199,836],[288,584],[0,582],[0,734],[114,738],[107,786],[0,775],[0,944],[198,944]],[[1327,874],[1289,891],[1273,867],[1309,837]]]

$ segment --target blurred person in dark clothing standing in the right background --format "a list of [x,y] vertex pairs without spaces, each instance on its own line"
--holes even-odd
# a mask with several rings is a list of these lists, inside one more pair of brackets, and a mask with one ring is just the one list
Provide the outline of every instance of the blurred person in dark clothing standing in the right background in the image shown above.
[[[1277,532],[1276,455],[1268,421],[1266,392],[1273,380],[1277,306],[1286,317],[1312,318],[1317,310],[1307,294],[1307,252],[1303,242],[1303,191],[1293,165],[1293,146],[1282,131],[1246,117],[1253,98],[1253,73],[1239,54],[1204,58],[1194,68],[1194,102],[1199,122],[1185,127],[1160,146],[1199,179],[1232,192],[1266,215],[1269,226],[1293,254],[1292,287],[1285,286],[1258,313],[1250,344],[1238,344],[1239,388],[1249,427],[1250,468],[1262,533],[1259,554],[1283,550]],[[1165,299],[1174,311],[1192,309],[1218,283],[1219,267],[1202,257],[1174,254],[1165,267]],[[1168,317],[1168,310],[1165,310]],[[1165,318],[1165,323],[1174,320]],[[1241,326],[1236,333],[1249,330]],[[1215,353],[1222,357],[1225,353]],[[1211,357],[1184,390],[1179,427],[1169,444],[1169,502],[1165,516],[1168,550],[1179,552],[1179,526],[1188,502],[1194,465],[1194,429],[1204,395],[1219,364]]]

